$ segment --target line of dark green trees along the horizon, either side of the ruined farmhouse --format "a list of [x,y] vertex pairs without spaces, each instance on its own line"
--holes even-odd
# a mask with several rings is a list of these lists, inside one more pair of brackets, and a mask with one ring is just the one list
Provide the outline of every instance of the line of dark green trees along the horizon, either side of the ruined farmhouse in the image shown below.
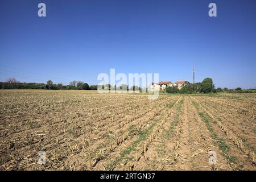
[[[117,86],[106,84],[102,85],[102,89],[109,88],[117,89]],[[48,80],[46,84],[44,83],[26,83],[18,82],[15,78],[8,78],[6,82],[0,82],[0,89],[49,89],[49,90],[97,90],[98,85],[89,85],[86,82],[82,81],[72,81],[69,82],[69,85],[63,84],[53,84],[51,80]],[[127,90],[141,90],[138,86],[129,86],[121,85],[118,89],[127,89]],[[214,88],[212,78],[205,78],[203,82],[197,82],[191,84],[187,82],[179,90],[177,86],[171,86],[166,88],[166,93],[217,93],[217,92],[236,92],[236,93],[256,93],[256,89],[228,89],[228,88]]]

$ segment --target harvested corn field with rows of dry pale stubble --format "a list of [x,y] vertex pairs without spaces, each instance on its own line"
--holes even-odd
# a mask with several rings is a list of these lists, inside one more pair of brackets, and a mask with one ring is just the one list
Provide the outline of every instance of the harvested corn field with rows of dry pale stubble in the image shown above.
[[[145,94],[0,90],[0,98],[1,170],[256,169],[256,94],[148,100]],[[209,163],[210,152],[216,164]]]

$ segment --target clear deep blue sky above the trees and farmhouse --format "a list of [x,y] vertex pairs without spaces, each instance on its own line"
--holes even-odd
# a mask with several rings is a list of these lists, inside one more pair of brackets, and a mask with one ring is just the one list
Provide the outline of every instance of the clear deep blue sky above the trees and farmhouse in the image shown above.
[[1,0],[0,81],[97,84],[115,68],[192,82],[195,61],[197,82],[255,88],[255,33],[254,0]]

